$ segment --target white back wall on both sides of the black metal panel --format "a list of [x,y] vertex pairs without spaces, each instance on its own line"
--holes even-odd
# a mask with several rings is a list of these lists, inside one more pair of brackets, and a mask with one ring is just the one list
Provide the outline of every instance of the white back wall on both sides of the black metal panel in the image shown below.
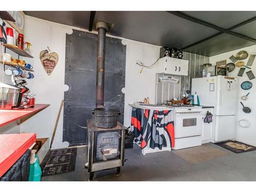
[[[71,34],[72,29],[87,31],[35,17],[25,17],[25,40],[31,42],[31,52],[34,56],[34,58],[26,58],[26,62],[31,63],[35,71],[34,79],[28,79],[28,87],[31,93],[37,94],[36,103],[48,103],[50,106],[22,123],[20,132],[35,132],[38,138],[52,136],[59,105],[66,90],[64,84],[66,33]],[[142,101],[145,97],[149,97],[152,103],[155,102],[156,69],[143,69],[140,74],[141,68],[136,65],[136,61],[151,65],[157,60],[160,47],[128,39],[123,39],[122,42],[126,45],[125,89],[123,90],[125,92],[124,125],[130,126],[131,107],[129,103]],[[40,51],[47,49],[47,46],[59,56],[57,66],[50,76],[45,72],[39,59]],[[53,148],[67,146],[67,143],[62,143],[62,125],[63,110]]]

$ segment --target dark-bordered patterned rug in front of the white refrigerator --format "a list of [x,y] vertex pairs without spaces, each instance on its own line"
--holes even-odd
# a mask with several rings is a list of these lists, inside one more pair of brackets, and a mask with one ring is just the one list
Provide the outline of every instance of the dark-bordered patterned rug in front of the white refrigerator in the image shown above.
[[215,143],[223,148],[226,148],[227,150],[233,152],[233,153],[244,153],[244,152],[251,152],[256,150],[255,146],[251,146],[239,141],[223,141],[219,143]]

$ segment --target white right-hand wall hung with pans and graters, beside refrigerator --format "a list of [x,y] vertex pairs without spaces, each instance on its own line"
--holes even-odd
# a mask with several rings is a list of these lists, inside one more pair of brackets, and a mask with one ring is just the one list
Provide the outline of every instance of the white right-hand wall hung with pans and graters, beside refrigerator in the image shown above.
[[[212,57],[210,57],[209,61],[213,65],[216,65],[216,61],[225,60],[225,59],[227,60],[227,63],[232,62],[229,59],[229,57],[231,55],[236,56],[236,54],[241,50],[245,50],[250,54],[252,52],[256,52],[256,46],[250,46],[250,47],[246,47],[246,48],[243,48],[243,49],[234,50],[234,51],[230,51],[230,52],[223,53],[223,54],[220,54],[220,55],[212,56]],[[245,62],[245,65],[246,65],[248,59],[249,59],[249,56],[245,60],[243,60]],[[251,68],[253,74],[256,76],[256,66],[255,65],[256,65],[256,59],[254,60],[254,63],[253,63],[252,68]],[[237,75],[238,75],[239,69],[240,68],[236,67],[231,73],[229,73],[229,76],[238,77]],[[244,143],[247,143],[247,144],[256,145],[256,118],[255,118],[256,103],[254,101],[254,98],[256,97],[256,78],[250,80],[253,84],[253,86],[250,90],[245,91],[245,90],[242,90],[241,87],[240,87],[240,85],[243,81],[249,80],[249,78],[246,75],[247,71],[249,71],[249,69],[245,70],[243,77],[238,77],[238,80],[239,80],[239,92],[238,92],[239,101],[238,101],[238,111],[237,111],[237,134],[236,134],[237,138],[236,139],[238,141],[241,141],[241,142],[244,142]],[[249,99],[246,100],[246,101],[243,101],[241,99],[241,97],[243,95],[246,95],[248,92],[250,92]],[[243,112],[242,105],[241,105],[240,101],[242,101],[245,106],[249,106],[249,108],[251,109],[250,114],[246,114],[246,113]],[[241,120],[241,119],[248,119],[251,123],[251,126],[248,127],[248,128],[240,127],[239,124],[238,124],[238,121]],[[227,126],[228,126],[228,124],[227,124]]]

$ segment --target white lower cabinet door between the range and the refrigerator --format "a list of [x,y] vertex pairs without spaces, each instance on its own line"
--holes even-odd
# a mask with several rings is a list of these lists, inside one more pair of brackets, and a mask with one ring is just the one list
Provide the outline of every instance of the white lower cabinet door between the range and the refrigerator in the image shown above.
[[209,142],[214,138],[214,116],[212,117],[211,123],[205,123],[204,118],[206,117],[206,113],[209,111],[213,115],[213,110],[204,109],[203,110],[203,130],[202,130],[202,142]]

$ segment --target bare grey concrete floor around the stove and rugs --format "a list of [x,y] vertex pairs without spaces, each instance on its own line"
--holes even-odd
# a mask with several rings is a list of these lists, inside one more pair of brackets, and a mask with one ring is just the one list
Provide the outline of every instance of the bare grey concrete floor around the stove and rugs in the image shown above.
[[[142,155],[140,148],[125,150],[126,162],[121,174],[115,175],[115,169],[97,172],[95,181],[256,181],[256,151],[235,154],[220,148],[230,155],[190,164],[172,152],[158,152]],[[42,177],[42,181],[88,181],[85,147],[78,147],[76,169],[73,172]]]

